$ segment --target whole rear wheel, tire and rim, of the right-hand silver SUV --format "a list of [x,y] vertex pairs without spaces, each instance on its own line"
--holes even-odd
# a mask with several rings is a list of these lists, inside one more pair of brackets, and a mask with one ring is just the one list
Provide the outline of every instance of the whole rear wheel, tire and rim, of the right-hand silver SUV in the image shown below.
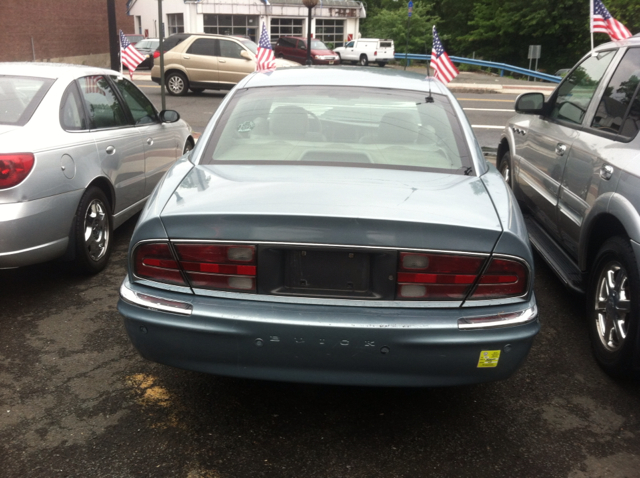
[[640,277],[631,244],[613,237],[596,256],[587,297],[591,345],[598,364],[609,375],[631,372],[639,297]]

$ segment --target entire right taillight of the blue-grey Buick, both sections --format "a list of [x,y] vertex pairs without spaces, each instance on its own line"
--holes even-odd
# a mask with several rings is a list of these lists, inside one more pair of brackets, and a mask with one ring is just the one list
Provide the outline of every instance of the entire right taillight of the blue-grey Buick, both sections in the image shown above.
[[[397,272],[400,300],[482,300],[527,292],[529,271],[520,261],[453,254],[401,252]],[[469,295],[471,293],[471,295]]]

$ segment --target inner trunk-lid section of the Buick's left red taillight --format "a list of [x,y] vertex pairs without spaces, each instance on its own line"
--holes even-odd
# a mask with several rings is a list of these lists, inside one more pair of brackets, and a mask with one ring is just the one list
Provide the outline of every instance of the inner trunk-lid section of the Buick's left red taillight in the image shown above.
[[193,287],[256,291],[255,246],[176,244],[175,248]]

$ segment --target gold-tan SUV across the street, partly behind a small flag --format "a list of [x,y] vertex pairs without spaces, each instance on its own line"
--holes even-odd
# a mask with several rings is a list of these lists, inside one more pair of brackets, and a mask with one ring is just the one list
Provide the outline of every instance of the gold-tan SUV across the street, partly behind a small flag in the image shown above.
[[[164,83],[170,95],[188,90],[229,90],[256,69],[258,45],[234,36],[196,33],[164,53]],[[277,59],[277,67],[300,66]],[[160,84],[160,62],[151,70],[151,80]]]

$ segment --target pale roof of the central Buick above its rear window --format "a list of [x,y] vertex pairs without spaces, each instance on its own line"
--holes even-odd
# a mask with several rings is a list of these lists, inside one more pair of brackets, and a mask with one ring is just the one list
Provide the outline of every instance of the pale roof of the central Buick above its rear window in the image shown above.
[[[426,71],[425,71],[426,73]],[[425,74],[392,68],[357,68],[352,66],[284,68],[264,74],[248,76],[238,88],[268,86],[364,86],[399,90],[427,91],[431,84],[433,93],[451,96],[440,81],[426,79]]]

